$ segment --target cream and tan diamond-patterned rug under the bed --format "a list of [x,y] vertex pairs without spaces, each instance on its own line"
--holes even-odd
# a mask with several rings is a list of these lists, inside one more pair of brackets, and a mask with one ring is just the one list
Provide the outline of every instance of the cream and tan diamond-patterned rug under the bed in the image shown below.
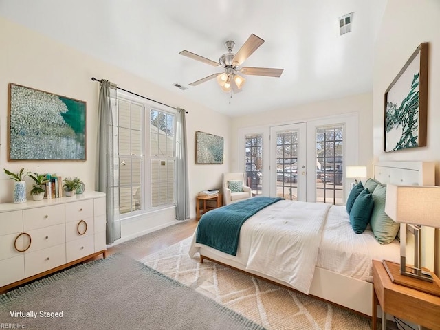
[[371,329],[371,321],[322,300],[228,267],[190,259],[191,238],[146,256],[142,263],[273,330]]

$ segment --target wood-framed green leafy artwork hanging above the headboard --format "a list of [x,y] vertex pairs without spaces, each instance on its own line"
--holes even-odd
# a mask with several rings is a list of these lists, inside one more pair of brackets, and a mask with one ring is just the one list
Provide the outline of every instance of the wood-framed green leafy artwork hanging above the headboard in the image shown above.
[[385,92],[384,151],[426,146],[428,43],[421,43]]

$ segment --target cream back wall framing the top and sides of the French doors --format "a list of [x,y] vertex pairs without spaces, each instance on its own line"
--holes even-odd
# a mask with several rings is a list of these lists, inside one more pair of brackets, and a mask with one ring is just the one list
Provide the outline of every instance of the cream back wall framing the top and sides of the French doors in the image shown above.
[[322,102],[304,104],[293,109],[278,109],[234,118],[232,121],[230,135],[230,168],[232,171],[238,169],[238,130],[247,127],[256,126],[276,126],[279,124],[292,124],[295,122],[304,122],[317,118],[325,118],[331,115],[340,115],[343,113],[358,113],[359,118],[359,141],[360,149],[359,164],[369,166],[372,174],[373,167],[373,135],[371,131],[372,117],[371,111],[373,107],[373,96],[371,93],[358,94],[355,96],[347,96],[346,98],[338,98],[334,100],[326,100]]

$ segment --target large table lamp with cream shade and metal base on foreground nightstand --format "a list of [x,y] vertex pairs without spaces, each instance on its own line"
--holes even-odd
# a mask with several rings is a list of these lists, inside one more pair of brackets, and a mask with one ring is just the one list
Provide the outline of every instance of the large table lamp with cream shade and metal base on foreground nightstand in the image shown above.
[[[430,272],[421,269],[421,225],[440,227],[439,186],[386,185],[385,213],[405,223],[414,234],[414,267],[406,265],[406,230],[400,230],[400,274],[432,282]],[[434,246],[432,246],[434,249]],[[386,261],[384,261],[386,266]]]

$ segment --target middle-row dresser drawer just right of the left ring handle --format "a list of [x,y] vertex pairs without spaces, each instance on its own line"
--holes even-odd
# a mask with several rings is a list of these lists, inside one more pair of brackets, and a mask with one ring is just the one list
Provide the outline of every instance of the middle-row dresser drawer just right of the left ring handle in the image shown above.
[[65,243],[65,225],[51,225],[50,227],[30,230],[28,232],[32,239],[30,248],[27,251],[34,252],[54,245]]

